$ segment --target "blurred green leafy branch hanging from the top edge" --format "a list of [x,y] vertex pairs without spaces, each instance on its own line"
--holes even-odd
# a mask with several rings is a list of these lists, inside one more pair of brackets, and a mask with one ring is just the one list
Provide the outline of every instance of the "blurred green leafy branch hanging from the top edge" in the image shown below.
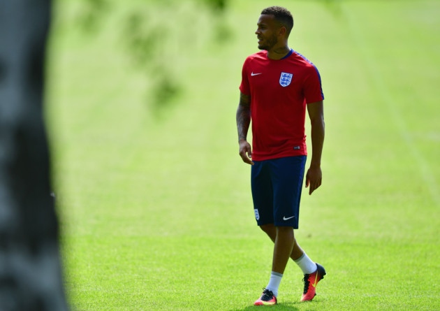
[[[208,16],[210,30],[213,31],[215,41],[227,41],[231,32],[223,22],[228,8],[228,0],[194,0],[192,3],[198,9],[196,12],[179,11],[179,7],[191,1],[150,0],[142,6],[133,3],[124,13],[122,42],[127,57],[145,73],[150,87],[147,98],[152,111],[156,116],[161,110],[170,106],[173,99],[182,89],[182,82],[176,71],[179,66],[172,59],[179,55],[189,55],[194,47],[186,47],[175,41],[196,37],[198,29],[188,30],[187,25],[182,27],[175,19],[186,19],[193,22],[197,15]],[[131,5],[130,2],[127,5]],[[79,22],[85,34],[96,35],[100,31],[105,18],[112,12],[111,0],[83,0]],[[163,12],[163,16],[157,16]],[[173,53],[171,55],[170,53]]]

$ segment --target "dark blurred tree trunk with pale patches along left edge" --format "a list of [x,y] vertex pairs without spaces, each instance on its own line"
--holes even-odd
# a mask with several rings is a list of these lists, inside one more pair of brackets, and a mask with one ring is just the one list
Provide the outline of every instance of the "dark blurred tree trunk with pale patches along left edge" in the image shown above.
[[43,124],[49,0],[0,0],[0,310],[68,310]]

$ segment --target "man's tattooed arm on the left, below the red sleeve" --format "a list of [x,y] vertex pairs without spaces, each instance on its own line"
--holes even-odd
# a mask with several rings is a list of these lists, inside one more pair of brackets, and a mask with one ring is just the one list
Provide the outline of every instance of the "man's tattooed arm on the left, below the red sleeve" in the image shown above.
[[249,124],[251,124],[251,96],[240,92],[240,103],[238,103],[237,115],[235,116],[235,119],[237,120],[240,157],[242,157],[244,163],[253,165],[254,162],[251,160],[252,148],[246,140]]

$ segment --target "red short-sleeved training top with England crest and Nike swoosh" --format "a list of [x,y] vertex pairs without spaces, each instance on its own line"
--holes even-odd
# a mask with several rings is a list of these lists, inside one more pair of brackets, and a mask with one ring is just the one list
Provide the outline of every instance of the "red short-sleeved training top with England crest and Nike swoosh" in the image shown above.
[[307,155],[306,103],[324,99],[314,64],[294,50],[279,60],[258,52],[244,61],[240,92],[251,96],[253,160]]

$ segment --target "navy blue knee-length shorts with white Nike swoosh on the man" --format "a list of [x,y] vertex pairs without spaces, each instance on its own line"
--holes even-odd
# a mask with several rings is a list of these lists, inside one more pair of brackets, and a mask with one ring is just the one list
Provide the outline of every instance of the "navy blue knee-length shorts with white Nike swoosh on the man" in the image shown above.
[[298,229],[306,156],[254,161],[252,199],[258,226],[274,224]]

